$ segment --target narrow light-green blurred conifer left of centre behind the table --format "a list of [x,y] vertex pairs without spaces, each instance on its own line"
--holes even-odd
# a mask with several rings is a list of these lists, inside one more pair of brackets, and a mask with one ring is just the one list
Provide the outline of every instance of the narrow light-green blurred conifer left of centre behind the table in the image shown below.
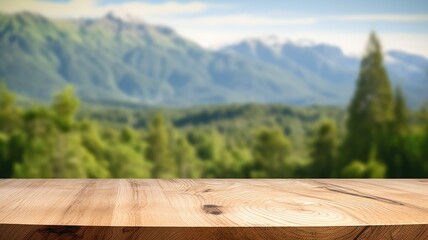
[[164,118],[157,114],[149,126],[147,137],[146,158],[152,162],[152,177],[176,177],[176,164],[170,151],[170,137]]

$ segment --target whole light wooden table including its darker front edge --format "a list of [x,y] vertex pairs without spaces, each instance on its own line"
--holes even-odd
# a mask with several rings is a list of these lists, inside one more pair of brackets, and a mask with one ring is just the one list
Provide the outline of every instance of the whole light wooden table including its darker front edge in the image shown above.
[[428,180],[0,180],[0,239],[428,239]]

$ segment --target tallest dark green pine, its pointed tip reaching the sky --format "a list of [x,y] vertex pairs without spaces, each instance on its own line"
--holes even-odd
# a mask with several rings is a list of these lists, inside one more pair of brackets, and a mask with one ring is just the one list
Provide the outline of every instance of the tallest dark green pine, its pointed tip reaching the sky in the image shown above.
[[[347,137],[343,145],[342,166],[352,159],[368,161],[371,146],[385,148],[393,120],[393,95],[383,66],[382,49],[371,33],[361,62],[357,88],[348,109]],[[383,159],[385,152],[378,152]]]

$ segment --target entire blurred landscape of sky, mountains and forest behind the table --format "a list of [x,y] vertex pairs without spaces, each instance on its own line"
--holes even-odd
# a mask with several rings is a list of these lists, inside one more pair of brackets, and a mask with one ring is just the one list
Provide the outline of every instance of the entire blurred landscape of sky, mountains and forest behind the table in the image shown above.
[[0,0],[0,177],[428,177],[427,26],[424,0]]

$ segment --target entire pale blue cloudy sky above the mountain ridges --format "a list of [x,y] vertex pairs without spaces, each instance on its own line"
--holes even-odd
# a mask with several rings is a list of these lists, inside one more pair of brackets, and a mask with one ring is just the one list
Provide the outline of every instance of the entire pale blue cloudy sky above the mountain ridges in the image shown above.
[[0,0],[0,12],[97,18],[108,12],[172,27],[203,47],[275,36],[364,53],[370,31],[384,50],[428,57],[428,0]]

